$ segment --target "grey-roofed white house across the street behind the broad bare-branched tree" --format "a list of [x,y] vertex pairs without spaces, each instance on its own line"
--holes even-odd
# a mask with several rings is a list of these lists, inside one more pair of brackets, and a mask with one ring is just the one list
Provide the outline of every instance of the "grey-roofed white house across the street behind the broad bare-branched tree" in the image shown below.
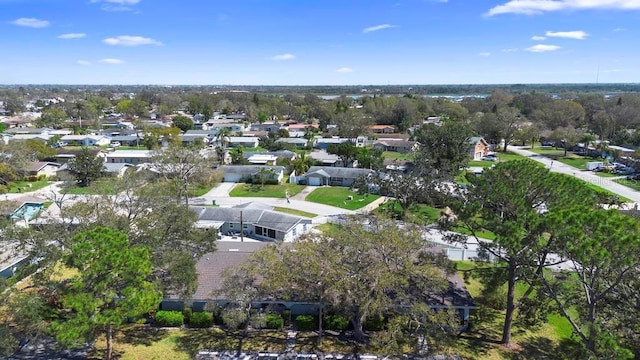
[[[311,219],[265,209],[260,204],[232,208],[191,207],[198,214],[196,227],[216,228],[221,235],[243,236],[265,241],[293,241],[311,229]],[[242,222],[241,222],[242,221]]]

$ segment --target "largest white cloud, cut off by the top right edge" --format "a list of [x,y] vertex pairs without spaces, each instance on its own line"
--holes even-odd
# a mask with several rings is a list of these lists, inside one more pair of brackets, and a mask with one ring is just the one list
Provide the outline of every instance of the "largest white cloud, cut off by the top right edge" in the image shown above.
[[588,9],[640,10],[640,0],[510,0],[492,7],[485,15],[538,15],[552,11]]

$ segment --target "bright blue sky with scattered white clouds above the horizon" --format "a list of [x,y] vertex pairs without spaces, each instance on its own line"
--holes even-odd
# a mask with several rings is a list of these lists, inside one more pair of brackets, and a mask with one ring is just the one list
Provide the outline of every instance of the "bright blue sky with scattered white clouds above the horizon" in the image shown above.
[[640,0],[0,0],[0,84],[640,82]]

